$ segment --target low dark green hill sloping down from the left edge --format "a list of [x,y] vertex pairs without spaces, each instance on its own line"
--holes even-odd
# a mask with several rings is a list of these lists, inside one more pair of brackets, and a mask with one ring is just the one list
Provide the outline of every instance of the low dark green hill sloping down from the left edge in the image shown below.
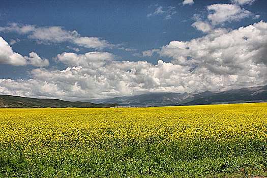
[[11,95],[0,95],[0,107],[2,108],[95,108],[95,107],[117,107],[119,104],[94,104],[91,102],[70,102],[58,99],[37,99],[18,97]]

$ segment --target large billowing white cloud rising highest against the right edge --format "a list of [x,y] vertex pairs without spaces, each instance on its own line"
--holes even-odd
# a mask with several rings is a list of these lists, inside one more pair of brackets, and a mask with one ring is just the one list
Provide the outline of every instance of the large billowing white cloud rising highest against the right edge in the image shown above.
[[266,46],[267,23],[261,21],[230,32],[216,29],[191,41],[172,41],[159,53],[172,57],[175,64],[206,68],[219,75],[248,75],[259,67],[266,70]]

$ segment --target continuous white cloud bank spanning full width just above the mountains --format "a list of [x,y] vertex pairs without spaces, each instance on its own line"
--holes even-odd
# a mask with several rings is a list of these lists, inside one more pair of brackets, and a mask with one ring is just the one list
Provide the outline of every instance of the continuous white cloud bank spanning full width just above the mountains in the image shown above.
[[62,53],[64,70],[34,69],[28,80],[0,79],[0,93],[88,100],[149,92],[203,92],[267,82],[267,23],[214,29],[201,38],[172,41],[157,52],[171,62],[115,61],[105,52]]

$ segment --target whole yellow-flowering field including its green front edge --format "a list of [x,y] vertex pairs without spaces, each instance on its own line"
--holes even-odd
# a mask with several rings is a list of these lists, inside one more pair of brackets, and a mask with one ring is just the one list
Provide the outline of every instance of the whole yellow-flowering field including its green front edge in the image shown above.
[[0,177],[267,175],[267,103],[0,109]]

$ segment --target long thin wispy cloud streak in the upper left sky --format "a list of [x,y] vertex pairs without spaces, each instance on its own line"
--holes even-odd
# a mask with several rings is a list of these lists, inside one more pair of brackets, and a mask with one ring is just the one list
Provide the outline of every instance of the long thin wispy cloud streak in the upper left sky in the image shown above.
[[5,27],[0,27],[0,32],[29,34],[28,38],[45,44],[70,42],[85,48],[103,49],[105,47],[113,47],[106,40],[98,37],[81,37],[77,31],[67,31],[62,26],[37,27],[10,23]]

